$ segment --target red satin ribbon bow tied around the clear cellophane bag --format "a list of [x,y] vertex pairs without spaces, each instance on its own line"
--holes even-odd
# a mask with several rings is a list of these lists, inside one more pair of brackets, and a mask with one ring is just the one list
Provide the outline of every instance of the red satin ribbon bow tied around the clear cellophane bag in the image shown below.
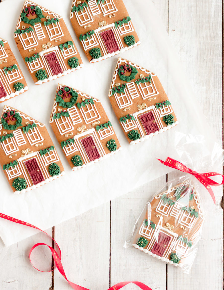
[[[207,189],[207,191],[211,195],[212,200],[214,201],[214,204],[216,204],[216,199],[215,199],[214,193],[213,193],[213,191],[211,189],[211,186],[219,186],[219,185],[224,184],[224,175],[219,174],[217,172],[197,173],[196,171],[191,170],[190,168],[188,168],[187,166],[185,166],[181,162],[179,162],[179,161],[177,161],[177,160],[175,160],[173,158],[170,158],[170,157],[167,157],[166,161],[162,161],[162,160],[160,160],[158,158],[157,158],[157,160],[159,160],[161,163],[163,163],[166,166],[178,169],[178,170],[180,170],[182,172],[189,173],[189,174],[193,175],[194,177],[196,177],[197,180],[200,181],[200,183],[205,186],[205,188]],[[222,176],[223,180],[222,180],[221,183],[217,183],[214,180],[209,178],[211,176],[217,176],[217,175]]]

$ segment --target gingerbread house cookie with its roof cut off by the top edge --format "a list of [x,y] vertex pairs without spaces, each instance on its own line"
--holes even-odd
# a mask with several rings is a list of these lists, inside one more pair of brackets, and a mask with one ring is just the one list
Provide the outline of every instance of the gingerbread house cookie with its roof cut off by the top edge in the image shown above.
[[70,18],[89,62],[141,43],[122,0],[73,0]]

